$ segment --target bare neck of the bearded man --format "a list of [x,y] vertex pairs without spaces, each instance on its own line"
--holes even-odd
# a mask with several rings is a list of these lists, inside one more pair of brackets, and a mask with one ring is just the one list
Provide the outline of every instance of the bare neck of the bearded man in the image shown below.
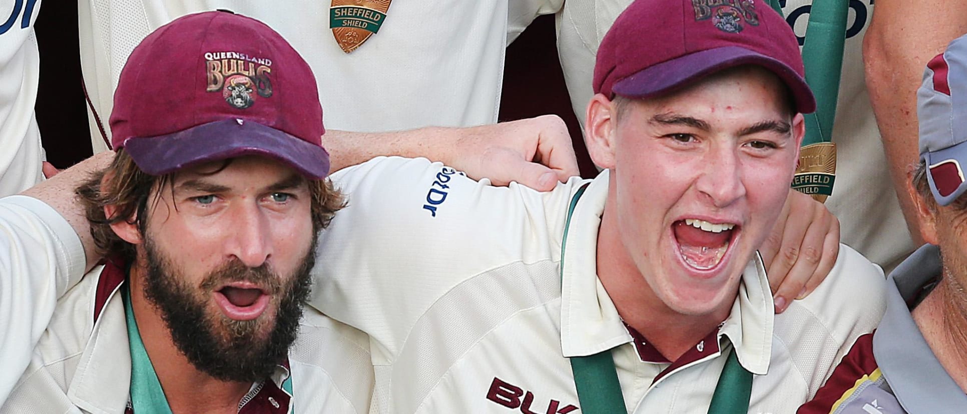
[[[171,339],[167,324],[144,295],[143,272],[132,266],[131,304],[138,333],[172,413],[235,413],[250,383],[221,381],[194,368]],[[198,404],[198,401],[205,401]],[[199,409],[203,411],[199,411]]]

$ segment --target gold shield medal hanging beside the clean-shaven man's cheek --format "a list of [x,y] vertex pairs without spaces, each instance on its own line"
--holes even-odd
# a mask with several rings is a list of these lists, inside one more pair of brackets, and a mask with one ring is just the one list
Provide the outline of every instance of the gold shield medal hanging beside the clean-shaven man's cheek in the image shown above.
[[836,178],[836,145],[821,142],[803,147],[799,151],[799,167],[792,179],[792,187],[811,195],[814,200],[825,203],[833,194]]

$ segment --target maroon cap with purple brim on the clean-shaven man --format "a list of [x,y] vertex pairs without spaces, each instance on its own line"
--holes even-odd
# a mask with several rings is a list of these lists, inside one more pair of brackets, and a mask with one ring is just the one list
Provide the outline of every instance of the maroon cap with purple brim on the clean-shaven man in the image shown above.
[[797,111],[816,110],[796,35],[763,1],[635,0],[601,41],[594,88],[657,97],[741,65],[775,72]]

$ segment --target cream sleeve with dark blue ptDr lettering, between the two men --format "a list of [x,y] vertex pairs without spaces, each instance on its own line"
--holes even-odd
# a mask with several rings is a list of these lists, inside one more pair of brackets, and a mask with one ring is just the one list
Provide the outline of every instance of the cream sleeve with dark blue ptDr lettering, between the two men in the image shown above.
[[494,187],[400,157],[332,179],[348,207],[319,235],[309,304],[369,335],[376,364],[390,363],[416,321],[461,282],[509,262],[559,258],[558,206],[578,182],[547,193]]

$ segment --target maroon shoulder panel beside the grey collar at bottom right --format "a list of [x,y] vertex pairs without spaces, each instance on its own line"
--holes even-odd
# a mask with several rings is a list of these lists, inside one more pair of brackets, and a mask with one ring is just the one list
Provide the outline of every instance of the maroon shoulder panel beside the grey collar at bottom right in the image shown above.
[[829,414],[833,404],[856,386],[856,381],[876,371],[879,366],[873,358],[873,334],[868,333],[856,339],[849,353],[839,362],[833,375],[816,392],[816,396],[803,406],[797,414]]

